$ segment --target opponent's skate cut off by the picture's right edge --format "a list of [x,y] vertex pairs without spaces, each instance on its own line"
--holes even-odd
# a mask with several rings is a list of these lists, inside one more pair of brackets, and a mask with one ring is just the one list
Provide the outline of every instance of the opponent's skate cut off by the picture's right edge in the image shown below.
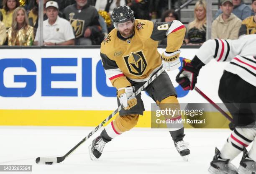
[[256,162],[248,157],[246,148],[243,149],[243,157],[240,161],[237,174],[256,174]]

